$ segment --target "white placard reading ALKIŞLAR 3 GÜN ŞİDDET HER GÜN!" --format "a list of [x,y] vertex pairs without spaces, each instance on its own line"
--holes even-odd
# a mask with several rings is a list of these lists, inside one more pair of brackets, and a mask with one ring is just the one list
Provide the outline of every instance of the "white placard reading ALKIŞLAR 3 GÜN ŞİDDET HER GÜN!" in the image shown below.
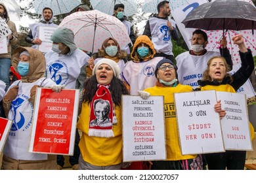
[[224,152],[215,90],[174,95],[182,154]]

